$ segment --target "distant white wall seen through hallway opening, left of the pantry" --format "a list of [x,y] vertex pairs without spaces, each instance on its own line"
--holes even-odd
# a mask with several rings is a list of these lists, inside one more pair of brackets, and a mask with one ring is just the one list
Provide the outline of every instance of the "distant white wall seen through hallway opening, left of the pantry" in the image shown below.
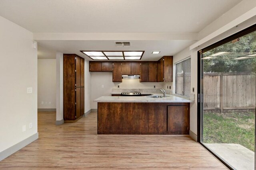
[[38,59],[37,75],[38,108],[56,109],[56,59]]

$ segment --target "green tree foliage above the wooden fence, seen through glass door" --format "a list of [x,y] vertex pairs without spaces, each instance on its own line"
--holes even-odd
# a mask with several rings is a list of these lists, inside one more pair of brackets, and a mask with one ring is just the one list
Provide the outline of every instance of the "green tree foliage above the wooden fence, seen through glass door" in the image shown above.
[[218,52],[228,52],[222,55],[205,59],[204,72],[256,72],[256,57],[235,60],[238,57],[256,53],[256,31],[240,37],[240,41],[232,41],[220,45],[204,53],[204,57],[214,56]]

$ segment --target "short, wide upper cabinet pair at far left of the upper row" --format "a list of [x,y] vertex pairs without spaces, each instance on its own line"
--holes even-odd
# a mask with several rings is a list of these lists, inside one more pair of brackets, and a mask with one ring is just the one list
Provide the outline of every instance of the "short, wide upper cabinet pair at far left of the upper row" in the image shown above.
[[113,62],[90,61],[90,72],[112,72]]

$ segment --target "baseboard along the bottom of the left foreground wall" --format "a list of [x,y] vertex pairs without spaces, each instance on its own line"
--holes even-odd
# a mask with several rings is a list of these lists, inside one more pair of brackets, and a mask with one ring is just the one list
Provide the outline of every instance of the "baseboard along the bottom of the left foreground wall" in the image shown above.
[[11,154],[17,152],[18,150],[22,149],[23,147],[26,147],[26,145],[32,143],[36,139],[38,139],[38,132],[28,137],[27,139],[24,139],[23,141],[20,141],[19,143],[13,145],[12,147],[3,150],[2,152],[0,152],[0,161],[3,160],[4,158],[7,158]]

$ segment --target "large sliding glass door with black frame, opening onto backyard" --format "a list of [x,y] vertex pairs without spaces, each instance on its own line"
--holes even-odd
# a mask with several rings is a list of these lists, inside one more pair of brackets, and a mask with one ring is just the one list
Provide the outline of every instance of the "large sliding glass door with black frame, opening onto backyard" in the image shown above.
[[256,29],[203,49],[199,59],[200,143],[227,166],[253,170]]

